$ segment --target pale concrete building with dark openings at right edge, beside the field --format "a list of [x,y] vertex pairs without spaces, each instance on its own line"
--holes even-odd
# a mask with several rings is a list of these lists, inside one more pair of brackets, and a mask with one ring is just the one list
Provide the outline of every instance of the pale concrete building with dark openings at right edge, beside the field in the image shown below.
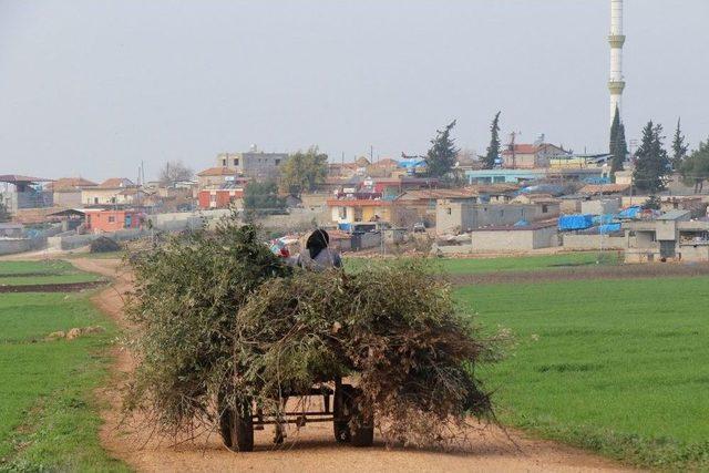
[[709,220],[689,210],[671,210],[653,220],[624,223],[626,263],[709,261]]

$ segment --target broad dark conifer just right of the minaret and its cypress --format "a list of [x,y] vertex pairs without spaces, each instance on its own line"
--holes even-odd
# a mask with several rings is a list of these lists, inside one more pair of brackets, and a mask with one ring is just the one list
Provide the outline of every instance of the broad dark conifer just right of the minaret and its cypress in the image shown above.
[[633,179],[635,185],[650,194],[665,189],[670,161],[664,148],[662,125],[649,121],[643,128],[643,143],[638,147]]

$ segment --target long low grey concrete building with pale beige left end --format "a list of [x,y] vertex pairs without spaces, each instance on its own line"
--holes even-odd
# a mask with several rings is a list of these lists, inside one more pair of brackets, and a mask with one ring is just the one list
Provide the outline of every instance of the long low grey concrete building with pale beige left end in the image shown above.
[[483,227],[514,225],[521,220],[534,223],[559,216],[558,203],[548,204],[475,204],[440,199],[435,212],[439,235],[459,234]]

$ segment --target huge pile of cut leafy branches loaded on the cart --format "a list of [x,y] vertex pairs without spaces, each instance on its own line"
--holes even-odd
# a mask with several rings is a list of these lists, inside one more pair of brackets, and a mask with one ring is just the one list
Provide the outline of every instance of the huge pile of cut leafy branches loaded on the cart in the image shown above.
[[294,270],[255,228],[225,223],[133,267],[138,366],[125,407],[163,433],[218,430],[244,402],[279,415],[282,399],[336,377],[353,380],[391,442],[448,440],[471,414],[492,415],[474,368],[494,360],[496,340],[420,264]]

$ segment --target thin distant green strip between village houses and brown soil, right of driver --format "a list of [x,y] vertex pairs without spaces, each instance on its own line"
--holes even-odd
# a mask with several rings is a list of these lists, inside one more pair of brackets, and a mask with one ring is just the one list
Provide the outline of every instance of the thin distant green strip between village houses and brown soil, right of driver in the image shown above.
[[[559,255],[505,256],[494,258],[419,258],[431,265],[432,269],[451,275],[497,273],[497,271],[535,271],[554,270],[568,266],[590,266],[597,261],[602,265],[621,263],[617,251],[578,251]],[[390,259],[345,258],[345,267],[358,271],[370,265],[386,265]]]

